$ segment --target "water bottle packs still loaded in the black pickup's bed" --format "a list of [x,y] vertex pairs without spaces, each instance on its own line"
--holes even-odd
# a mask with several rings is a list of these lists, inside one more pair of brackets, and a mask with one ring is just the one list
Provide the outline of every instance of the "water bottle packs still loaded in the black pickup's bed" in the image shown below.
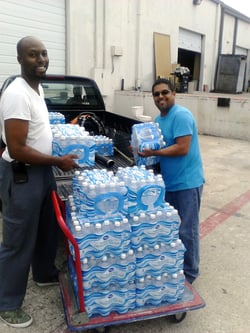
[[113,156],[113,140],[104,136],[90,136],[84,127],[65,124],[65,117],[59,112],[50,112],[50,124],[53,134],[52,154],[62,156],[76,154],[80,167],[95,164],[95,154]]

